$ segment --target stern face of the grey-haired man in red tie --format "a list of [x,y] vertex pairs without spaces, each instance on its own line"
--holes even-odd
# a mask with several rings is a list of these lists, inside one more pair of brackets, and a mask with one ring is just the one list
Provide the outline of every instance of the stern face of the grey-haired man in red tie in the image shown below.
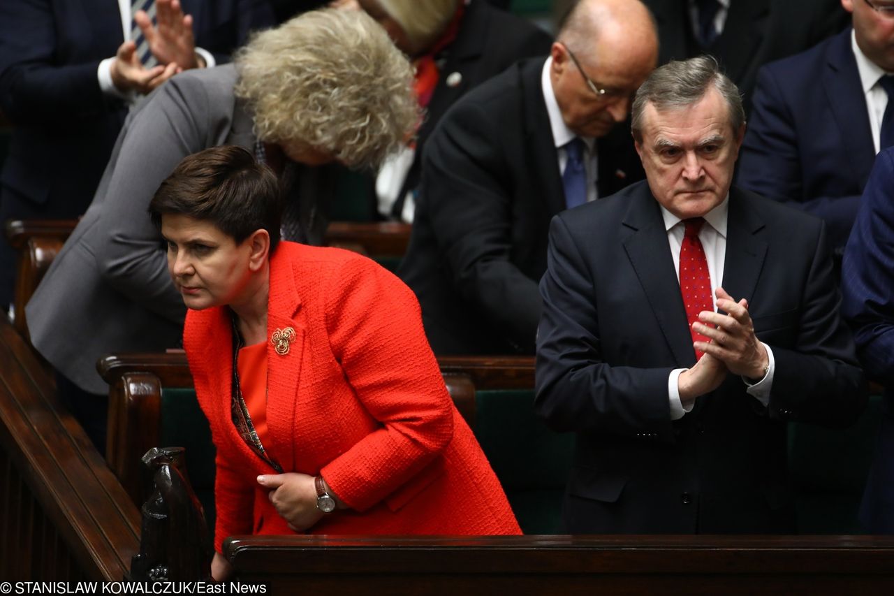
[[681,218],[703,217],[730,191],[745,126],[733,131],[721,94],[710,89],[691,106],[645,106],[637,153],[655,199]]

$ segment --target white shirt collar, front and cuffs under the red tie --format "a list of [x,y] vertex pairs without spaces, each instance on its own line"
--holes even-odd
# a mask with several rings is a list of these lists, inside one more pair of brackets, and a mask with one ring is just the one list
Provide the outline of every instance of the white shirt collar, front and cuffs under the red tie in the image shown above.
[[[683,236],[686,234],[686,225],[683,220],[673,215],[667,209],[662,209],[662,217],[664,218],[664,229],[668,234],[668,244],[671,247],[671,256],[673,257],[673,266],[677,271],[677,279],[679,280],[679,251],[683,245]],[[704,226],[698,233],[698,239],[702,242],[704,249],[704,258],[708,261],[708,275],[711,277],[711,302],[714,311],[717,311],[717,300],[714,290],[722,284],[717,280],[723,279],[723,266],[726,260],[726,236],[727,236],[727,215],[730,211],[730,196],[723,202],[708,211],[704,215]],[[733,296],[736,300],[738,297]],[[763,343],[763,342],[762,342]],[[754,396],[757,401],[766,407],[770,403],[770,389],[773,383],[773,372],[776,370],[776,362],[773,360],[773,353],[769,345],[763,344],[767,349],[767,357],[770,360],[770,366],[767,374],[757,383],[751,383],[746,378],[742,381],[748,387],[746,389],[750,396]],[[671,376],[668,378],[668,398],[671,404],[671,420],[679,420],[686,413],[692,410],[692,406],[688,409],[683,407],[683,403],[679,398],[679,375],[687,369],[671,370]]]

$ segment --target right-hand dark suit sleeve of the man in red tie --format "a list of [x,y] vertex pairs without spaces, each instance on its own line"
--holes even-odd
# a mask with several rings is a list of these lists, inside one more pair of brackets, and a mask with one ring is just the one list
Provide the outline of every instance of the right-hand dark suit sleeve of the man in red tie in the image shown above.
[[772,417],[847,426],[866,404],[863,370],[854,340],[841,319],[841,299],[825,227],[817,234],[806,278],[794,345],[770,346],[776,371],[770,392]]

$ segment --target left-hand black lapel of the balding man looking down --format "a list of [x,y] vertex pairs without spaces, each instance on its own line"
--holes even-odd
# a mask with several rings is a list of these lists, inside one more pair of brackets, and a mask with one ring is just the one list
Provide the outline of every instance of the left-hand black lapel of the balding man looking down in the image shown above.
[[531,60],[520,67],[519,85],[524,98],[525,143],[527,169],[541,175],[541,192],[550,215],[564,210],[565,191],[559,173],[559,154],[552,138],[550,116],[546,112],[541,74],[544,60]]

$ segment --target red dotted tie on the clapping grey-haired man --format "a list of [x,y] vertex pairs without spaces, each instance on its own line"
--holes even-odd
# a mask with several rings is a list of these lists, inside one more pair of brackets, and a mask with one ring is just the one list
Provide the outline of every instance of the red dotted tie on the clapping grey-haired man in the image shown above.
[[[711,275],[708,273],[708,260],[704,257],[702,241],[698,239],[698,231],[702,229],[704,219],[693,217],[684,219],[686,233],[683,245],[679,249],[679,289],[683,294],[683,305],[686,306],[686,318],[689,321],[689,333],[693,342],[711,341],[692,328],[701,311],[713,311],[711,300]],[[696,350],[696,360],[704,352]]]

